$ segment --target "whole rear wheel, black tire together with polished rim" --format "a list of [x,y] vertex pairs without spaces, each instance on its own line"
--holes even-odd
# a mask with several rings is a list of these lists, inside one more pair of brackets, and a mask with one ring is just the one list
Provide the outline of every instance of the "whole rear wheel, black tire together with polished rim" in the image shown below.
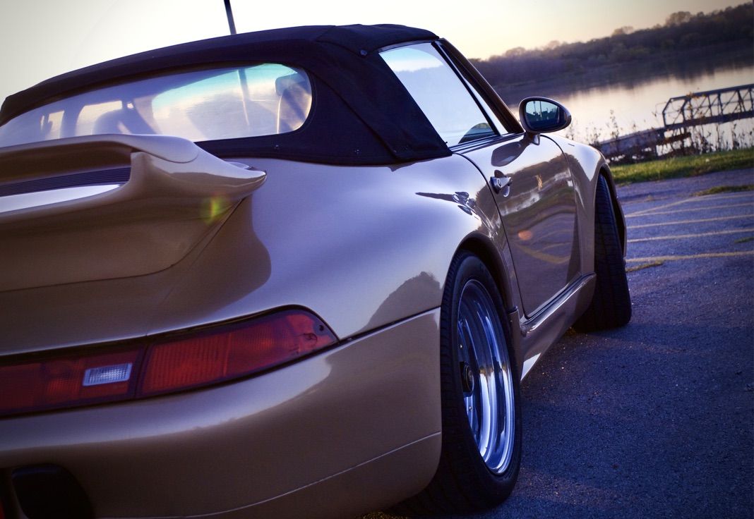
[[[521,463],[520,374],[503,308],[483,262],[467,252],[458,255],[450,266],[440,311],[440,465],[428,487],[395,507],[395,513],[481,511],[500,504],[513,490]],[[490,365],[495,368],[483,369]],[[480,378],[489,372],[483,386]],[[484,405],[483,395],[496,404]],[[485,427],[485,413],[498,417],[495,425]]]

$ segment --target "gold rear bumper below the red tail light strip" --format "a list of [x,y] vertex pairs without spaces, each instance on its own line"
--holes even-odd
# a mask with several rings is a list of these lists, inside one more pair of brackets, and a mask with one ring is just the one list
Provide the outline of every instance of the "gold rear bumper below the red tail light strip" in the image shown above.
[[437,468],[439,317],[225,386],[0,420],[2,481],[62,466],[97,517],[352,517],[389,505]]

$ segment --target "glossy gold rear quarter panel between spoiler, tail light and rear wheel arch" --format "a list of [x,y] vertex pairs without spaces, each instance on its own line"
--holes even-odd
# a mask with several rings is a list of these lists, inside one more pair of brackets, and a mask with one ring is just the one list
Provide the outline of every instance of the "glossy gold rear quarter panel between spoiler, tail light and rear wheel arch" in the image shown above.
[[440,306],[469,236],[498,213],[474,166],[446,157],[347,167],[244,160],[268,172],[159,309],[152,333],[302,306],[341,338]]

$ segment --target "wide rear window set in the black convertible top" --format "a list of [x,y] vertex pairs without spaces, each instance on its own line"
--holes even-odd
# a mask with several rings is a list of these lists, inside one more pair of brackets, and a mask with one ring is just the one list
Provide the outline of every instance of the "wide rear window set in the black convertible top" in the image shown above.
[[276,63],[162,75],[90,90],[0,127],[0,146],[103,133],[193,141],[287,133],[311,108],[305,72]]

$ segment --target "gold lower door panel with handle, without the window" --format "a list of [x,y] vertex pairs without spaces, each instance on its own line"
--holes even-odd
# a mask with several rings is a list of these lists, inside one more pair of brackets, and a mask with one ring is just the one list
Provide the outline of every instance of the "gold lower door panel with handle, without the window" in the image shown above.
[[568,161],[546,136],[526,134],[462,153],[492,183],[523,310],[532,316],[579,274],[575,193]]

